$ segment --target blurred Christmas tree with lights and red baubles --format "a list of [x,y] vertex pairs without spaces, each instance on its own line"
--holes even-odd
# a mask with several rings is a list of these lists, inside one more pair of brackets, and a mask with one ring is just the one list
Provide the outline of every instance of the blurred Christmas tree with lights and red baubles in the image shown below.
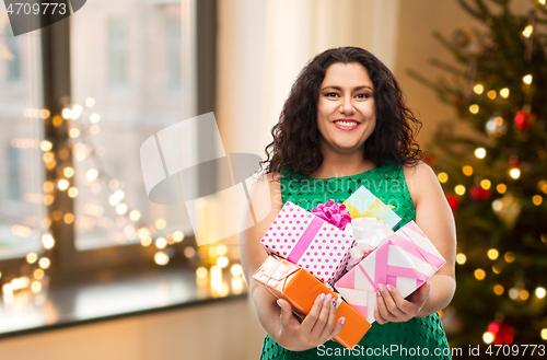
[[485,28],[434,35],[457,62],[431,60],[443,79],[409,71],[458,114],[427,149],[457,228],[457,289],[443,323],[453,347],[545,347],[546,1],[526,14],[509,0],[458,2]]

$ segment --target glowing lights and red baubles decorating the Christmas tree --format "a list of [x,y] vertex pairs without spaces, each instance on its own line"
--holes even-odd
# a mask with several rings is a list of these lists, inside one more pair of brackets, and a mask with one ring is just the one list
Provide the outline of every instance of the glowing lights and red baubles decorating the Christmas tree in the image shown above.
[[[546,0],[539,0],[539,4],[545,5]],[[534,21],[535,15],[532,14],[529,19],[529,23],[522,31],[522,35],[526,40],[526,58],[529,61],[529,54],[532,47],[532,35],[534,33]],[[469,79],[474,80],[474,79]],[[525,73],[522,77],[522,90],[525,93],[528,93],[529,88],[532,86],[534,81],[533,73]],[[489,89],[487,90],[486,85],[482,83],[474,83],[473,92],[477,95],[486,95],[490,101],[496,100],[498,96],[505,100],[510,97],[510,89]],[[527,98],[529,101],[529,96]],[[468,106],[468,112],[472,115],[477,115],[480,112],[480,106],[477,103],[472,103]],[[516,112],[514,116],[514,126],[521,131],[527,131],[529,125],[534,123],[536,119],[536,114],[532,113],[531,107],[528,105],[524,106],[521,111]],[[494,113],[491,118],[486,123],[486,133],[490,138],[498,138],[507,133],[508,131],[508,120],[504,119],[500,113]],[[487,159],[488,152],[484,147],[478,147],[474,150],[474,155],[477,161],[482,161]],[[538,152],[539,159],[546,160],[547,152],[545,150],[539,150]],[[466,177],[470,177],[474,174],[474,169],[472,165],[467,164],[462,166],[462,173]],[[447,200],[451,208],[456,209],[459,205],[459,198],[462,198],[466,193],[469,193],[472,198],[478,200],[487,200],[490,198],[493,190],[496,190],[501,198],[496,198],[491,201],[491,208],[493,212],[509,227],[512,228],[519,217],[521,209],[523,207],[523,200],[516,198],[508,190],[508,182],[517,181],[522,175],[522,171],[520,167],[520,163],[516,156],[511,156],[507,163],[507,181],[500,182],[498,184],[492,184],[492,181],[489,178],[477,178],[476,185],[466,188],[463,184],[456,184],[454,186],[454,194],[449,195]],[[437,174],[438,179],[442,184],[446,184],[449,182],[449,174],[445,172],[439,172]],[[528,201],[531,201],[534,206],[539,207],[544,202],[544,197],[547,194],[547,179],[542,179],[537,184],[537,194],[533,195]],[[547,239],[545,234],[540,235],[540,241],[543,243],[547,243]],[[504,254],[500,254],[497,248],[489,248],[486,251],[486,255],[489,260],[491,260],[491,271],[493,274],[500,274],[505,264],[511,264],[515,260],[515,255],[512,252],[505,252]],[[458,265],[464,265],[467,262],[467,256],[463,252],[458,252],[456,254],[456,263]],[[487,269],[476,268],[473,271],[473,275],[477,281],[482,281],[487,277]],[[496,295],[503,295],[507,293],[509,298],[516,302],[525,302],[531,297],[535,297],[538,300],[543,300],[547,295],[547,290],[543,286],[536,287],[534,290],[526,290],[523,281],[516,281],[513,287],[510,289],[505,289],[502,284],[497,283],[493,286],[492,291]],[[531,293],[532,292],[532,293]],[[488,327],[488,330],[484,333],[482,340],[485,344],[499,344],[500,341],[500,327],[507,326],[507,324],[502,324],[500,322],[492,322]],[[505,334],[502,337],[501,341],[504,344],[511,344],[513,341],[514,328],[511,326],[507,326]],[[540,329],[540,337],[544,340],[547,340],[547,328]]]

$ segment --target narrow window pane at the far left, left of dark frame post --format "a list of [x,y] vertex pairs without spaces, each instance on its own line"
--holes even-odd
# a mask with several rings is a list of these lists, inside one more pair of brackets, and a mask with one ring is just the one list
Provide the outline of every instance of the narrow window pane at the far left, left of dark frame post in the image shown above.
[[[39,32],[0,28],[0,260],[38,252],[48,231],[43,140]],[[2,268],[3,269],[3,268]]]

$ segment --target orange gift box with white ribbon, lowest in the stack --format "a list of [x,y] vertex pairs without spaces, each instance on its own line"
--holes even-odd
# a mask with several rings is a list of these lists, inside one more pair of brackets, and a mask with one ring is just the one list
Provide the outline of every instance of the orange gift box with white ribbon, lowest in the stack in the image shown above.
[[277,298],[289,301],[299,315],[307,315],[319,294],[331,294],[338,304],[336,321],[346,317],[340,334],[334,339],[349,349],[359,344],[371,327],[364,317],[341,300],[340,294],[333,292],[313,275],[282,257],[269,255],[253,278]]

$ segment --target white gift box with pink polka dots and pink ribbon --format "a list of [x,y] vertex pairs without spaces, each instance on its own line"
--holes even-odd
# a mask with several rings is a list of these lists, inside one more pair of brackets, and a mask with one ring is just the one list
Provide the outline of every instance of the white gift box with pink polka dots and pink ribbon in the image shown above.
[[290,201],[261,240],[268,253],[287,258],[330,284],[342,274],[353,242],[350,232]]

